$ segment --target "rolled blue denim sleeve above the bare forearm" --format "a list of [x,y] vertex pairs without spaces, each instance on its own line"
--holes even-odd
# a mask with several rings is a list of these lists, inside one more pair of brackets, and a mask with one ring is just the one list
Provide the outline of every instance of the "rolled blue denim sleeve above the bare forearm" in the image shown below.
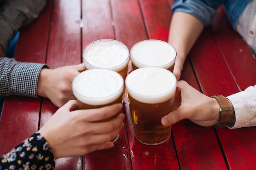
[[211,23],[216,10],[224,0],[173,0],[173,13],[180,11],[198,18],[205,26]]

